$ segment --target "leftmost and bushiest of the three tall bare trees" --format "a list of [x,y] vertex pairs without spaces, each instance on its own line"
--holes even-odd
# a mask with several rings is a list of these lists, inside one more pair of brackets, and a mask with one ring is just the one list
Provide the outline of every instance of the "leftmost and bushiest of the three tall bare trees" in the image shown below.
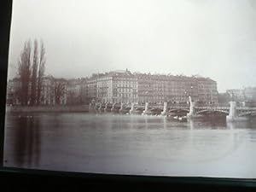
[[29,83],[30,83],[30,67],[31,67],[31,41],[26,41],[21,51],[18,61],[18,73],[20,75],[20,99],[21,105],[27,105],[29,102]]

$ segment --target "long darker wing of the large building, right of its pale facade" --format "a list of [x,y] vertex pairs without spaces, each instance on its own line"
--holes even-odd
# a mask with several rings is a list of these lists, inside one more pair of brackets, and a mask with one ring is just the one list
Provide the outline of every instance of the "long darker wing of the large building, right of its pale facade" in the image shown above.
[[218,103],[217,83],[212,79],[183,75],[151,75],[137,73],[138,101],[153,103]]

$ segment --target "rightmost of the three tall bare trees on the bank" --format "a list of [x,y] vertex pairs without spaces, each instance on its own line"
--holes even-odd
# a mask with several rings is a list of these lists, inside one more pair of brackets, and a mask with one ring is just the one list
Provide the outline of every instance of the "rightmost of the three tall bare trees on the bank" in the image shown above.
[[41,91],[42,91],[42,84],[43,84],[43,77],[44,77],[44,69],[45,69],[45,49],[44,49],[44,42],[41,41],[41,49],[40,49],[40,57],[39,57],[39,69],[38,69],[38,96],[37,101],[38,105],[43,102],[41,98]]

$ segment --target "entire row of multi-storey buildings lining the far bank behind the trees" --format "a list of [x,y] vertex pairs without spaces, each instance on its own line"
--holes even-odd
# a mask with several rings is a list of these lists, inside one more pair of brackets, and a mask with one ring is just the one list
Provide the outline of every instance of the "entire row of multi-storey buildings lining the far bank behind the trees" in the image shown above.
[[[64,86],[60,104],[82,104],[89,102],[125,103],[184,103],[188,96],[204,104],[218,103],[216,81],[198,76],[163,75],[113,71],[92,74],[84,79],[54,79],[44,77],[42,104],[55,104],[56,82]],[[9,102],[19,104],[15,92],[19,90],[19,79],[8,85]]]

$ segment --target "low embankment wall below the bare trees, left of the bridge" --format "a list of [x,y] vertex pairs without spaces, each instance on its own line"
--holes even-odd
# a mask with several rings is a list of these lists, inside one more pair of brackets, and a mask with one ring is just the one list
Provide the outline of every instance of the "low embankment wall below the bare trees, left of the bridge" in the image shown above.
[[29,113],[29,112],[89,112],[88,105],[55,105],[55,106],[7,106],[7,113]]

